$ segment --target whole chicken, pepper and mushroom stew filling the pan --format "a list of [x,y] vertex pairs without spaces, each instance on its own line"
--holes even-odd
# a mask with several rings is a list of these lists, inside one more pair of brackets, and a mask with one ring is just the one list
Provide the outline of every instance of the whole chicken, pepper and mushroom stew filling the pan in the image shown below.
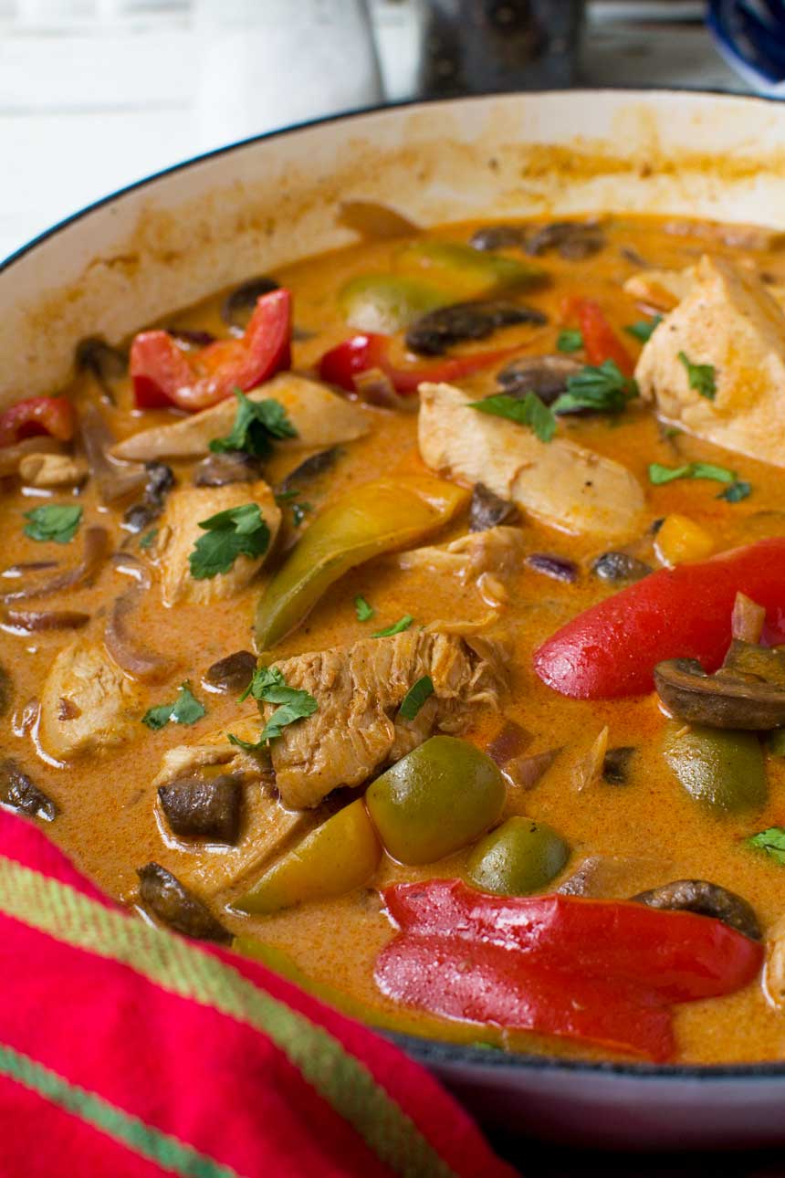
[[368,1023],[785,1057],[785,241],[357,244],[0,415],[0,801]]

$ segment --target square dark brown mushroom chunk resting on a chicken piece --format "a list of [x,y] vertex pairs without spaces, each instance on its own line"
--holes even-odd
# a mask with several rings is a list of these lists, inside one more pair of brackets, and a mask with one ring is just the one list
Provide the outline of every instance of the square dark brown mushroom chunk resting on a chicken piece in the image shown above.
[[174,834],[232,845],[237,842],[242,783],[234,774],[172,781],[159,786],[158,796]]

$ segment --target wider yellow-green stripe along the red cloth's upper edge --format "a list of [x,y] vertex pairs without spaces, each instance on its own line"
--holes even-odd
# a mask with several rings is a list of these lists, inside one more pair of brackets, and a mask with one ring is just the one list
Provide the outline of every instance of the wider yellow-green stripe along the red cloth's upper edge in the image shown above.
[[401,1178],[457,1178],[361,1060],[324,1027],[212,954],[8,859],[0,859],[0,909],[59,941],[131,966],[169,993],[261,1031]]

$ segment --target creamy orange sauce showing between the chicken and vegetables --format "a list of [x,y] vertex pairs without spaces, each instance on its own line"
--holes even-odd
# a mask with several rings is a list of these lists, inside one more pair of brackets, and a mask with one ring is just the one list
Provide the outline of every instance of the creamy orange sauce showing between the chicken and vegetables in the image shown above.
[[[434,231],[435,236],[465,241],[475,225],[451,225]],[[608,220],[604,250],[581,262],[566,262],[554,253],[543,260],[551,282],[533,290],[525,302],[548,316],[543,327],[518,326],[499,331],[493,343],[468,349],[519,345],[521,353],[540,355],[556,350],[560,330],[559,305],[565,293],[591,294],[601,302],[608,318],[621,326],[641,318],[640,309],[621,290],[631,273],[640,269],[627,260],[623,247],[634,249],[657,267],[677,267],[693,263],[705,251],[706,241],[698,237],[676,237],[663,231],[654,220]],[[351,335],[337,306],[337,292],[347,278],[384,272],[398,244],[362,243],[328,256],[317,257],[275,273],[291,289],[294,320],[302,333],[295,338],[293,366],[308,370],[327,349]],[[785,280],[785,256],[730,250],[711,244],[717,253],[751,259],[756,267],[778,280]],[[515,256],[511,253],[511,256]],[[202,327],[224,335],[226,329],[218,315],[219,298],[172,316],[166,325]],[[141,326],[141,325],[140,325]],[[307,333],[307,335],[306,335]],[[639,345],[628,337],[632,355]],[[403,355],[403,351],[401,351]],[[478,396],[494,389],[494,370],[475,376],[463,385]],[[76,404],[98,397],[98,388],[82,377],[66,390]],[[140,415],[132,410],[131,391],[125,386],[115,406],[104,406],[111,428],[118,437],[135,432],[155,421],[168,421],[165,411]],[[173,418],[172,418],[173,419]],[[574,438],[598,452],[618,458],[639,479],[646,494],[648,521],[681,512],[706,528],[723,550],[767,534],[785,534],[780,470],[731,455],[686,435],[665,437],[650,408],[633,405],[619,423],[607,418],[576,418],[563,425],[564,436]],[[386,474],[423,470],[417,450],[417,417],[386,410],[373,411],[373,429],[360,441],[344,445],[344,456],[332,475],[321,479],[318,489],[304,495],[320,510],[332,498],[350,488]],[[275,456],[266,469],[274,484],[298,464],[304,455]],[[703,459],[729,466],[753,487],[752,495],[737,504],[717,498],[717,483],[681,481],[651,487],[647,468],[651,462],[678,465]],[[189,464],[173,463],[182,482],[189,478]],[[75,563],[81,536],[68,547],[36,543],[22,535],[22,512],[45,502],[69,502],[71,491],[41,495],[24,491],[8,479],[0,501],[0,529],[4,542],[4,565],[41,560],[58,560],[61,565]],[[128,538],[120,527],[119,510],[108,510],[97,499],[87,482],[75,502],[84,507],[84,522],[100,522],[112,535],[112,547],[125,545],[138,552],[138,538]],[[776,512],[764,517],[760,512]],[[297,536],[291,510],[284,508],[291,537]],[[313,515],[306,517],[304,530]],[[656,696],[616,702],[576,702],[565,700],[534,676],[532,650],[560,624],[601,597],[612,587],[590,573],[593,557],[610,547],[585,537],[572,537],[531,521],[523,519],[526,550],[568,556],[581,567],[577,584],[563,584],[531,569],[520,569],[510,582],[511,604],[501,615],[501,628],[513,642],[512,684],[504,702],[504,717],[518,721],[533,734],[528,753],[554,747],[563,752],[553,767],[530,792],[511,789],[507,813],[526,814],[556,827],[572,847],[571,860],[563,873],[566,878],[586,855],[631,856],[633,860],[672,865],[665,878],[698,878],[723,885],[750,900],[764,927],[785,914],[785,867],[750,852],[744,838],[767,826],[785,825],[785,762],[767,761],[770,801],[765,812],[743,818],[718,819],[700,809],[679,787],[664,762],[660,740],[664,726]],[[438,541],[461,535],[465,517],[458,519]],[[82,524],[84,532],[84,524]],[[144,556],[144,554],[142,554]],[[13,704],[0,721],[1,746],[15,757],[33,780],[55,800],[60,808],[47,832],[108,893],[133,904],[138,867],[149,860],[177,874],[182,861],[157,816],[155,792],[151,785],[167,748],[198,740],[206,732],[231,728],[238,715],[233,696],[208,694],[201,687],[207,668],[219,659],[239,650],[252,649],[253,611],[262,574],[247,589],[228,601],[211,607],[178,604],[165,609],[155,588],[147,595],[135,624],[145,643],[154,650],[174,654],[177,666],[168,680],[155,686],[141,686],[142,710],[173,700],[178,684],[189,680],[205,703],[208,715],[193,728],[175,724],[149,732],[141,723],[132,740],[100,755],[78,757],[69,765],[47,763],[36,752],[34,729],[26,730],[22,713],[36,700],[55,653],[71,640],[68,634],[52,633],[20,636],[7,628],[0,631],[0,664],[13,680]],[[0,590],[13,589],[13,580],[0,581]],[[100,641],[107,610],[127,581],[106,565],[95,584],[31,608],[73,608],[91,614],[82,631]],[[373,627],[355,616],[354,597],[362,594],[375,609]],[[275,648],[275,659],[307,650],[326,649],[366,637],[371,628],[394,622],[410,613],[415,622],[435,620],[478,620],[487,607],[473,585],[461,587],[445,577],[401,571],[393,560],[371,561],[332,587],[304,626]],[[626,786],[594,782],[590,788],[576,788],[576,767],[585,756],[591,741],[603,726],[610,728],[610,744],[631,744],[637,749]],[[498,730],[498,715],[478,714],[468,739],[480,746]],[[211,852],[204,852],[209,854]],[[219,851],[212,852],[220,854]],[[427,1019],[413,1012],[399,1012],[385,999],[373,981],[373,961],[378,949],[392,934],[381,911],[375,889],[391,881],[453,876],[461,873],[467,853],[427,868],[404,868],[385,858],[379,875],[368,888],[337,900],[314,902],[265,919],[241,918],[222,911],[231,899],[227,892],[213,902],[213,908],[238,935],[257,938],[284,951],[308,978],[344,992],[350,1002],[359,1001],[372,1008],[371,1018],[380,1021],[400,1020],[400,1025],[426,1033],[465,1040],[494,1040],[495,1032]],[[247,880],[244,881],[247,885]],[[558,885],[559,880],[556,881]],[[645,882],[631,867],[628,893]],[[766,1002],[759,982],[724,999],[696,1002],[676,1008],[678,1058],[684,1061],[719,1063],[736,1060],[781,1059],[785,1055],[785,1015]],[[551,1053],[601,1057],[599,1051],[540,1039],[534,1035],[506,1037],[513,1050],[538,1050]]]

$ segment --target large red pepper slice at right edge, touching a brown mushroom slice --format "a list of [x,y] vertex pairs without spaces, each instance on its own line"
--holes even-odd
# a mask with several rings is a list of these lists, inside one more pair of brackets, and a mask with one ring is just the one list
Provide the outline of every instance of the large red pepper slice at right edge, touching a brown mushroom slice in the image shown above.
[[577,700],[643,695],[665,659],[721,664],[737,593],[766,609],[766,638],[785,642],[785,537],[660,569],[574,617],[534,653],[548,687]]

